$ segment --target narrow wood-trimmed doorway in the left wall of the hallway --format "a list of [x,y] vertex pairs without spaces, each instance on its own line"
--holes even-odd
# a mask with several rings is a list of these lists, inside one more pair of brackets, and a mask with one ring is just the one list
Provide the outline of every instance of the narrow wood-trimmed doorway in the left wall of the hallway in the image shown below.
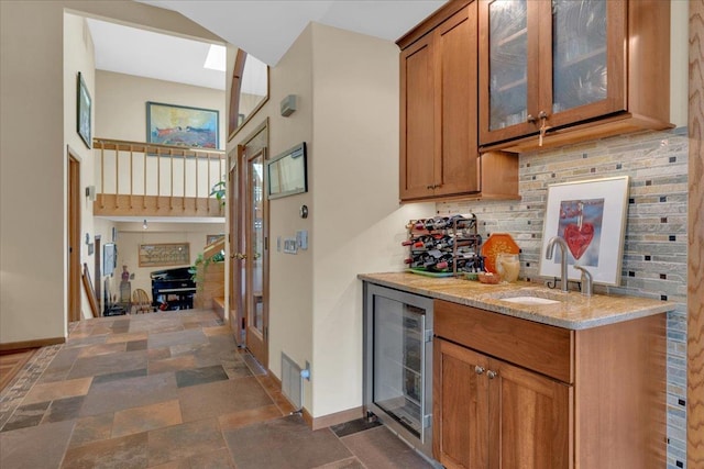
[[66,320],[80,321],[80,161],[68,149],[68,311]]

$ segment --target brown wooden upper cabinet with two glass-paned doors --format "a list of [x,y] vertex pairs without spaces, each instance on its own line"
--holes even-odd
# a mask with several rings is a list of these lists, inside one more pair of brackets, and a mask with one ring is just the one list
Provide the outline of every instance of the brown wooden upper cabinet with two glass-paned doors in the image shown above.
[[669,1],[479,2],[482,149],[672,126]]

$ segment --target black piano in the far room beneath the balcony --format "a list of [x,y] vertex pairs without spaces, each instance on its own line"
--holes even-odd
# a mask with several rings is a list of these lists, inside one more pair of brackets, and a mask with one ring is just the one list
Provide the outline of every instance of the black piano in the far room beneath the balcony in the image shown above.
[[160,311],[190,310],[194,308],[196,282],[190,267],[155,270],[152,277],[152,304]]

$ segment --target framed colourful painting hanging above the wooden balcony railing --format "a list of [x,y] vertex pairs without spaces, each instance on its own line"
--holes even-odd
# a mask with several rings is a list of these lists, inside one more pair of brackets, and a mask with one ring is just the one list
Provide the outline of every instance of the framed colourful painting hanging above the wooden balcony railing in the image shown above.
[[220,147],[220,112],[146,102],[146,141],[195,148]]

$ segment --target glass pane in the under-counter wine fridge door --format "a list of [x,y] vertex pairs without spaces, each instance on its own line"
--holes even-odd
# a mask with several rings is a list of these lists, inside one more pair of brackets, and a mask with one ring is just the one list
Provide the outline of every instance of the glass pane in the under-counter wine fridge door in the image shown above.
[[373,400],[417,436],[424,415],[425,311],[374,297]]

